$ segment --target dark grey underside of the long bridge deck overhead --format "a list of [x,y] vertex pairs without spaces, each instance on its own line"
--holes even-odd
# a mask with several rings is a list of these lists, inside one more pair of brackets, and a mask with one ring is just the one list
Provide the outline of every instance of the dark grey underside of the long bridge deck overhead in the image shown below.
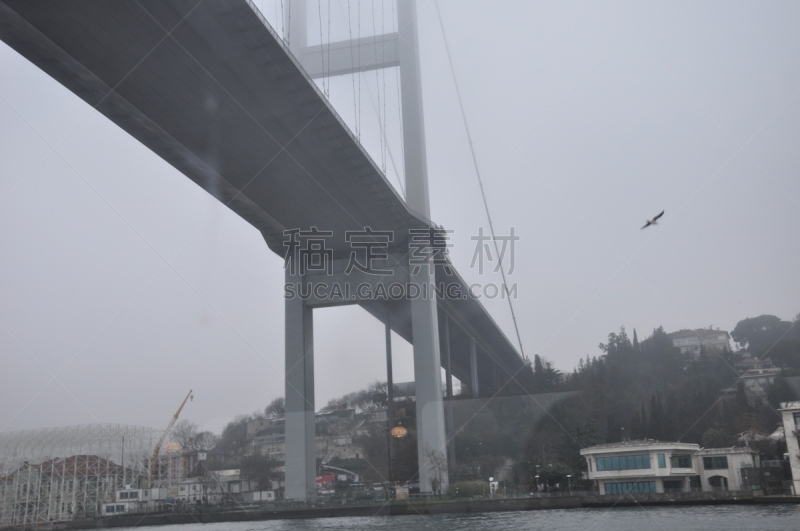
[[[411,211],[246,0],[0,1],[0,38],[242,216],[284,255],[283,231],[432,226]],[[437,282],[466,283],[437,267]],[[385,319],[382,303],[362,303]],[[408,303],[391,326],[410,340]],[[522,360],[479,301],[443,299],[440,311],[476,338],[487,362],[515,373]],[[451,341],[456,377],[469,349]],[[465,350],[466,348],[466,350]],[[488,357],[487,357],[488,355]],[[465,357],[466,356],[466,357]]]

